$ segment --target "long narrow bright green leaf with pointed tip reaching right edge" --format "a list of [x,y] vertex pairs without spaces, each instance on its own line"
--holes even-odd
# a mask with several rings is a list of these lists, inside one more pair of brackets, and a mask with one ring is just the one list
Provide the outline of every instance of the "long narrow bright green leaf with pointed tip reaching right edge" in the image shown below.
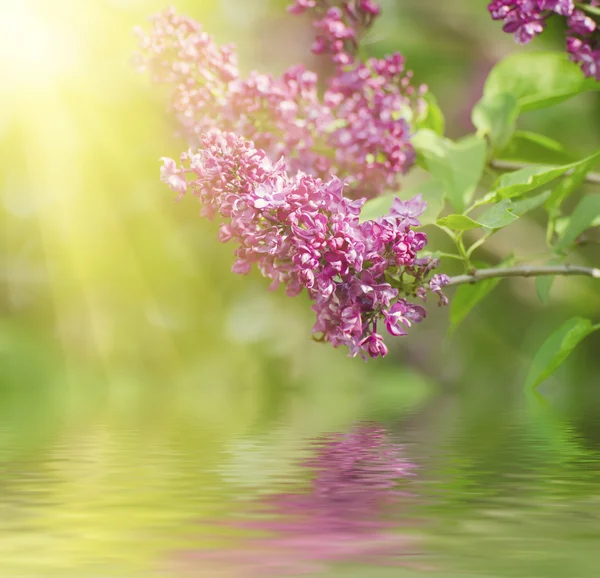
[[581,166],[600,161],[600,150],[579,161],[561,166],[532,165],[502,175],[495,187],[496,198],[518,197],[549,183],[568,171],[575,171]]

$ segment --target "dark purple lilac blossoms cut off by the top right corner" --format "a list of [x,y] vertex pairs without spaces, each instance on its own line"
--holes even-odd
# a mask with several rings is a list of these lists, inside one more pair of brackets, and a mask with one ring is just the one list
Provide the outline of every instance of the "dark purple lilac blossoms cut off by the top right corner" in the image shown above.
[[578,3],[573,0],[493,0],[488,10],[494,20],[504,21],[504,31],[512,33],[519,44],[526,44],[540,34],[549,17],[566,18],[566,46],[571,60],[581,65],[586,76],[600,80],[599,6],[600,0]]

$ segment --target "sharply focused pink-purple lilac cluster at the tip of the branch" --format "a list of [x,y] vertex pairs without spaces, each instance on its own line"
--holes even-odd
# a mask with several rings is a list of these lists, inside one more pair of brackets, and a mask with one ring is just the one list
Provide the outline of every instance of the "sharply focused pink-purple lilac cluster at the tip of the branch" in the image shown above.
[[448,278],[428,281],[438,262],[418,257],[427,243],[425,233],[412,229],[426,206],[420,196],[396,199],[390,215],[360,223],[364,199],[344,197],[338,178],[291,176],[283,160],[273,163],[233,133],[210,131],[202,144],[182,155],[182,166],[163,159],[162,180],[180,196],[188,190],[197,196],[204,216],[225,219],[219,237],[238,245],[235,273],[255,264],[272,288],[283,284],[291,296],[306,289],[319,340],[348,346],[351,356],[384,356],[378,323],[405,335],[426,315],[405,297],[424,300],[429,289],[447,302],[441,289]]

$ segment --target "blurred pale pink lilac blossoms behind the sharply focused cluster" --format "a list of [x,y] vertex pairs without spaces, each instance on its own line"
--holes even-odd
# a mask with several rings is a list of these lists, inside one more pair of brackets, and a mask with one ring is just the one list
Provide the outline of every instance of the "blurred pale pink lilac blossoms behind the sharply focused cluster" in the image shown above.
[[[298,0],[296,11],[329,4]],[[356,26],[368,26],[378,10],[370,0],[344,2],[326,10],[318,27],[327,38],[340,36],[335,49],[346,50],[348,42],[358,42]],[[271,159],[283,156],[291,172],[345,179],[353,198],[397,189],[398,178],[414,164],[410,119],[423,106],[425,88],[411,85],[399,54],[365,63],[336,58],[321,96],[317,75],[301,65],[281,77],[252,72],[242,78],[231,46],[217,46],[198,23],[173,10],[155,16],[149,34],[138,33],[137,63],[173,87],[172,108],[192,146],[213,128],[233,132]],[[333,50],[329,40],[323,42]]]

